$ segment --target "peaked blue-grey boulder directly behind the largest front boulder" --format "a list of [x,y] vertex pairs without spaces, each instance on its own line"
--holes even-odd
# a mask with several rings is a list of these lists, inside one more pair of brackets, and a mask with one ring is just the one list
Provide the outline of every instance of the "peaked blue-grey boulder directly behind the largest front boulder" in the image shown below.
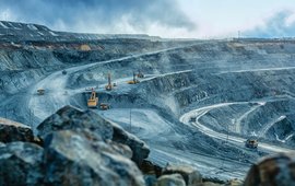
[[91,111],[82,112],[73,106],[64,106],[56,114],[46,118],[38,127],[38,136],[45,138],[48,133],[57,130],[75,130],[87,128],[99,135],[104,140],[111,139],[113,126]]

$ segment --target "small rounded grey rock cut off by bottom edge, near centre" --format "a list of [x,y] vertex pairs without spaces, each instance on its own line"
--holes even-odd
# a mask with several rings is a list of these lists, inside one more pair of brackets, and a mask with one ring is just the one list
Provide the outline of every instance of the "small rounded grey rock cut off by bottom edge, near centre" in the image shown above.
[[158,177],[156,186],[186,186],[186,183],[180,174],[170,174]]

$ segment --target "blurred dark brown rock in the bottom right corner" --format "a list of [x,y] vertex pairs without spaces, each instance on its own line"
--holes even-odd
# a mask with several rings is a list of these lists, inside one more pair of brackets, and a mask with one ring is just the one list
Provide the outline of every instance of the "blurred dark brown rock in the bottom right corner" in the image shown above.
[[267,156],[252,165],[245,186],[288,186],[295,185],[295,153]]

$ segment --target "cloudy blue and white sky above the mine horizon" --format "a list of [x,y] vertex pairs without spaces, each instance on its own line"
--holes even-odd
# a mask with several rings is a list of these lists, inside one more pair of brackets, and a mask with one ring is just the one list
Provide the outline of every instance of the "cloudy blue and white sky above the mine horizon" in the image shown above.
[[295,36],[294,0],[0,0],[0,19],[102,34]]

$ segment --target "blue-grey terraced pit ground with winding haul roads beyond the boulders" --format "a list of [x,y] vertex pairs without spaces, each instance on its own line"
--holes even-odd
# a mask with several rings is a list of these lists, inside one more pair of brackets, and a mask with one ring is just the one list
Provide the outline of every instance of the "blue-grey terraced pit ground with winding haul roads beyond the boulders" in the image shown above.
[[[111,108],[93,111],[143,139],[161,165],[243,178],[260,156],[294,149],[294,40],[52,33],[60,37],[1,42],[1,117],[36,127],[63,105],[87,109],[85,89],[94,88]],[[138,70],[145,77],[127,84]],[[108,73],[118,85],[109,92]],[[259,139],[257,151],[244,146],[250,136]]]

